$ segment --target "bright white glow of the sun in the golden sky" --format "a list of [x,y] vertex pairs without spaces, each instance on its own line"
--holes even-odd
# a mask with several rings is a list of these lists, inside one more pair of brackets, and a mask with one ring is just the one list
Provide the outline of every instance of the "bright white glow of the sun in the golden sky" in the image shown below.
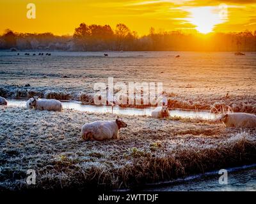
[[211,33],[215,25],[227,20],[227,16],[224,18],[223,10],[212,6],[191,8],[188,11],[191,13],[189,22],[196,26],[198,32],[204,34]]

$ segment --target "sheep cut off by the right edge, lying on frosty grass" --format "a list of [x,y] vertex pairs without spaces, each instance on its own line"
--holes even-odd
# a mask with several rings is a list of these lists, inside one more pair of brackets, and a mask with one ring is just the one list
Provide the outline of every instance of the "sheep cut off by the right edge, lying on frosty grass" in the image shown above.
[[227,113],[217,120],[227,128],[256,128],[256,115],[249,113]]

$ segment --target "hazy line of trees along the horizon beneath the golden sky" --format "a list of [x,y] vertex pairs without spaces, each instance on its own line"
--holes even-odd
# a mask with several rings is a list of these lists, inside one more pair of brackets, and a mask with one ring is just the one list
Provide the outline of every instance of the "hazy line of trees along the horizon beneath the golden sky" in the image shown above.
[[7,29],[0,36],[0,49],[70,51],[256,51],[256,31],[240,33],[188,34],[182,31],[160,32],[154,28],[139,37],[126,25],[80,24],[73,36],[52,33],[15,33]]

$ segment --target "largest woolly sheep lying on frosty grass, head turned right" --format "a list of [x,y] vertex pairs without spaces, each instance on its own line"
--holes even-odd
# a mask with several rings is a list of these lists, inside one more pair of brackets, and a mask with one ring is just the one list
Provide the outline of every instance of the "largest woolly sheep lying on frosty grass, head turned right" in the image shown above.
[[98,120],[88,124],[84,124],[81,129],[81,137],[83,140],[103,141],[118,138],[120,128],[126,128],[127,124],[119,119],[116,120]]

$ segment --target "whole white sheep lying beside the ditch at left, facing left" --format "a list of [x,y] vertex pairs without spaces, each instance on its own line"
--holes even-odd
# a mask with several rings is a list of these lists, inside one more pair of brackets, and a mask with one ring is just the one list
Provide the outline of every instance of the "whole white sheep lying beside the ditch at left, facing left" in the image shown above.
[[52,110],[60,111],[63,110],[61,102],[56,99],[35,99],[34,97],[26,102],[28,109],[35,108],[37,110]]

